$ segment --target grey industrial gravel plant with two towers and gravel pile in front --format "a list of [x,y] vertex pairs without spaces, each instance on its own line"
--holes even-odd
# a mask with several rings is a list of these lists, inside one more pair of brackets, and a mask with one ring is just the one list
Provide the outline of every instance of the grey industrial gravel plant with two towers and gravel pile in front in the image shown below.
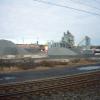
[[[81,43],[84,45],[80,45]],[[74,36],[69,32],[64,32],[60,42],[51,41],[48,43],[48,56],[82,56],[82,55],[94,55],[92,49],[90,49],[91,39],[88,36],[75,46]]]

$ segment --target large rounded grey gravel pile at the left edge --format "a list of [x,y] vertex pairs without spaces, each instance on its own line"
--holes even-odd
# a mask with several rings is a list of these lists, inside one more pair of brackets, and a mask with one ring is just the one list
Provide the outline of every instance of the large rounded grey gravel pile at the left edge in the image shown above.
[[4,55],[25,55],[29,54],[26,50],[17,47],[11,41],[8,40],[0,40],[0,56]]

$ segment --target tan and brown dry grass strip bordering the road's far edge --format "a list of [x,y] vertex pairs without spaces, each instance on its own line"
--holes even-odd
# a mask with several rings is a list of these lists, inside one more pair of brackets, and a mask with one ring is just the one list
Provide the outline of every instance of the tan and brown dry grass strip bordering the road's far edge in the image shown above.
[[97,63],[95,60],[90,59],[72,59],[68,61],[40,61],[38,63],[25,63],[25,64],[17,64],[13,66],[1,66],[0,73],[3,72],[16,72],[16,71],[24,71],[24,70],[47,70],[53,67],[76,67],[79,65],[88,65]]

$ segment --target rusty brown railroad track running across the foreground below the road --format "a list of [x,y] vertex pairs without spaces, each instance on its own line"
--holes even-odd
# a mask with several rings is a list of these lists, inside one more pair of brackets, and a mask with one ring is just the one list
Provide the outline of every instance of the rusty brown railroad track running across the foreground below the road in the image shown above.
[[100,87],[100,71],[0,85],[0,100],[17,100],[25,94],[41,95],[95,87]]

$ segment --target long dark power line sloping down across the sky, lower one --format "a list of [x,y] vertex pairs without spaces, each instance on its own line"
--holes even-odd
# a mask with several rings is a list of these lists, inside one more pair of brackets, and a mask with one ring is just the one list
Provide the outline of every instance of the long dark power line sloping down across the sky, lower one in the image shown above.
[[95,13],[95,12],[90,12],[90,11],[87,11],[87,10],[82,10],[82,9],[77,9],[77,8],[73,8],[73,7],[69,7],[69,6],[64,6],[64,5],[60,5],[60,4],[56,4],[56,3],[52,3],[52,2],[41,1],[41,0],[33,0],[33,1],[37,1],[37,2],[40,2],[40,3],[48,4],[48,5],[54,5],[54,6],[57,6],[57,7],[63,7],[63,8],[71,9],[71,10],[76,10],[76,11],[84,12],[84,13],[91,14],[91,15],[100,16],[100,14]]

